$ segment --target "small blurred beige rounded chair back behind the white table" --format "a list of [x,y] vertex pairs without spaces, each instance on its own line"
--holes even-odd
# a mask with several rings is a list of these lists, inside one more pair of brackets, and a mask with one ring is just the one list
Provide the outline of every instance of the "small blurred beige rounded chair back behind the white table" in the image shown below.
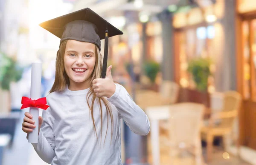
[[160,86],[160,93],[163,97],[170,99],[170,104],[178,100],[180,86],[172,81],[163,81]]

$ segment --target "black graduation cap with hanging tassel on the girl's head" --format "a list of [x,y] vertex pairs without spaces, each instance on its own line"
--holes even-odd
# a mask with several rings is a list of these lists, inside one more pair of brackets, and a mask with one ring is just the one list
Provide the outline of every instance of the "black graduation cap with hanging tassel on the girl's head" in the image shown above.
[[[73,39],[95,44],[101,50],[101,39],[105,39],[103,68],[105,78],[108,61],[108,37],[123,34],[122,31],[104,20],[90,8],[84,8],[39,24],[42,28],[61,39]],[[60,43],[61,43],[60,42]]]

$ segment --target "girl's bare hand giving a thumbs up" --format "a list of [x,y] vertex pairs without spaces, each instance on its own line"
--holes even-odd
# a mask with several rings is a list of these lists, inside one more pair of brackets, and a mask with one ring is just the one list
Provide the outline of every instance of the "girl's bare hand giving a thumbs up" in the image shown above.
[[107,68],[106,78],[96,78],[93,80],[93,90],[98,97],[110,98],[116,91],[116,85],[111,75],[112,65]]

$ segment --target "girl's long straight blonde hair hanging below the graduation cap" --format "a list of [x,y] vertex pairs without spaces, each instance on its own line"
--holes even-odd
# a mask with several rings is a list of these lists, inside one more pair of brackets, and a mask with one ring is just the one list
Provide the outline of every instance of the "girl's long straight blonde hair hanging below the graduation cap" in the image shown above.
[[[65,89],[67,84],[70,84],[69,77],[67,76],[67,73],[64,69],[64,54],[65,54],[66,45],[67,45],[67,40],[65,40],[61,43],[60,48],[57,51],[57,57],[56,57],[56,63],[55,63],[55,66],[56,66],[55,81],[54,81],[54,83],[52,85],[52,89],[49,91],[49,93],[54,92],[54,91],[61,92]],[[93,120],[94,131],[96,133],[96,137],[97,137],[97,140],[99,142],[98,134],[97,134],[97,131],[96,131],[96,126],[95,126],[95,120],[94,120],[94,117],[93,117],[93,106],[94,106],[95,100],[97,101],[97,103],[99,103],[99,106],[100,106],[101,141],[102,141],[102,102],[106,107],[107,117],[109,118],[109,115],[110,115],[110,118],[111,118],[111,140],[112,140],[112,135],[113,135],[113,114],[112,114],[112,111],[111,111],[111,106],[108,103],[108,100],[106,98],[96,96],[96,94],[95,94],[95,92],[93,91],[93,88],[92,88],[93,80],[95,78],[101,78],[102,61],[103,61],[102,55],[99,52],[99,48],[96,45],[95,45],[95,53],[96,53],[96,62],[95,62],[95,66],[94,66],[94,69],[93,69],[93,73],[89,77],[90,90],[87,93],[87,104],[89,106],[91,117],[92,117],[92,120]],[[91,104],[89,104],[89,98],[90,97],[92,97]],[[108,132],[108,123],[107,123],[107,130],[106,130],[105,140],[106,140],[106,137],[107,137],[107,132]],[[105,143],[105,140],[104,140],[104,143]]]

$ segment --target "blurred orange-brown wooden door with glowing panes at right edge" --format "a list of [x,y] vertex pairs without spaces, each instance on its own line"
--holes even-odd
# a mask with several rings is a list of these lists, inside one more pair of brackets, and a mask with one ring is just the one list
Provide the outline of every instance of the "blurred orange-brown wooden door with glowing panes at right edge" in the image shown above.
[[237,83],[243,97],[239,144],[256,150],[256,12],[240,14],[237,20]]

